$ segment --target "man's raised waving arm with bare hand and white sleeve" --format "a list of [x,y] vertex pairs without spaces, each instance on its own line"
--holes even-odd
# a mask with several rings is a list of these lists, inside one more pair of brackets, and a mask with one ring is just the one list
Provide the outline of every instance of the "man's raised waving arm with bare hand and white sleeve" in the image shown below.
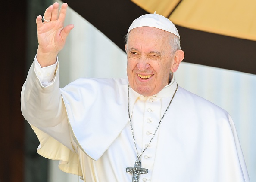
[[[37,60],[32,64],[26,82],[22,87],[21,109],[25,119],[44,133],[37,133],[41,146],[50,135],[69,149],[73,150],[72,138],[69,136],[69,125],[66,108],[62,101],[59,89],[59,70],[56,58],[58,52],[64,47],[66,37],[74,27],[68,25],[63,27],[67,4],[64,3],[59,12],[58,3],[49,6],[44,18],[50,22],[42,22],[41,16],[37,17],[38,50]],[[37,62],[38,61],[38,62]],[[53,65],[53,64],[57,65]],[[42,74],[51,67],[51,78]],[[41,68],[43,67],[43,69]],[[39,71],[38,71],[39,70]],[[43,70],[43,71],[42,71]],[[45,84],[47,82],[47,84]],[[38,131],[39,132],[39,131]]]

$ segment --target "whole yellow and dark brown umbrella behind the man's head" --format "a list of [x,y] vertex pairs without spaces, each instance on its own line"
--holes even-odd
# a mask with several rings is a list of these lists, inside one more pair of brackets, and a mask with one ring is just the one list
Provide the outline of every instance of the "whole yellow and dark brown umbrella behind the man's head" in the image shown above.
[[131,22],[146,13],[169,18],[181,35],[185,62],[256,74],[254,0],[66,0],[124,50]]

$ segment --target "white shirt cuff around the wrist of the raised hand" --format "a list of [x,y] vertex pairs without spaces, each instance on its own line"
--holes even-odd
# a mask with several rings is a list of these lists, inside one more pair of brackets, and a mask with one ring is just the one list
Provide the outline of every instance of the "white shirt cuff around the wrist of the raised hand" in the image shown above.
[[37,61],[37,55],[34,58],[34,70],[35,73],[44,87],[50,85],[53,82],[53,77],[58,64],[58,57],[55,64],[48,67],[41,67]]

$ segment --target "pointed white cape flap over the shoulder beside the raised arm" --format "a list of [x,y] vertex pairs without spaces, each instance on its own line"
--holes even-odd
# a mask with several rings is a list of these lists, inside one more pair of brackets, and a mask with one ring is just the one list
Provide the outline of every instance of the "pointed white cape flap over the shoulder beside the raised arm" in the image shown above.
[[75,142],[94,160],[128,122],[127,88],[127,79],[78,79],[61,90]]

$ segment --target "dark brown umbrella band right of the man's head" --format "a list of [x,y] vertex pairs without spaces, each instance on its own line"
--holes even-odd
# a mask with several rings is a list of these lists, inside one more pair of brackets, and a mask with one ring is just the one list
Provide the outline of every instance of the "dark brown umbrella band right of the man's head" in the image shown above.
[[185,62],[256,74],[256,42],[176,26]]

